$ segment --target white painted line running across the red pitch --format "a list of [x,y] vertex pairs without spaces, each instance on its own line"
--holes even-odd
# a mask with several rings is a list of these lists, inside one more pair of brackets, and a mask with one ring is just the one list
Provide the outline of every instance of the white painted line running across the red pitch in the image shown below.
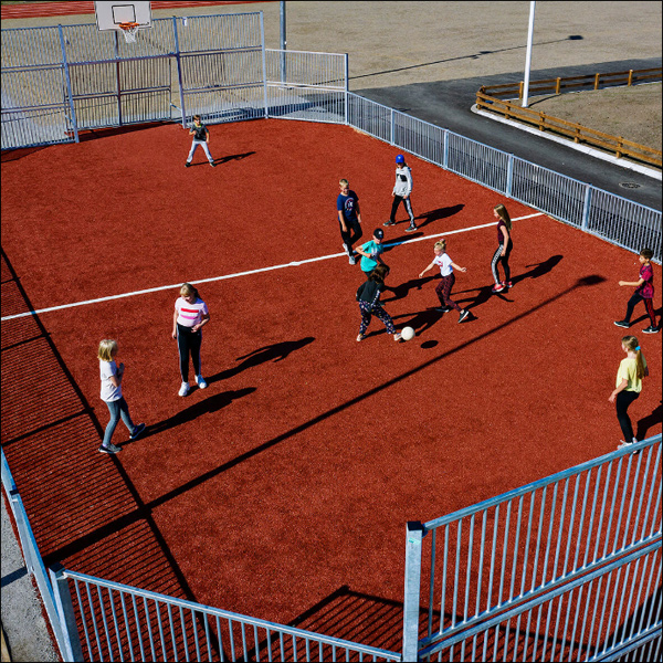
[[[543,212],[536,214],[528,214],[527,217],[518,217],[512,219],[512,221],[523,221],[524,219],[532,219],[534,217],[543,217]],[[400,246],[401,244],[413,244],[414,242],[423,242],[424,240],[433,240],[435,238],[443,238],[452,234],[460,234],[462,232],[470,232],[471,230],[481,230],[483,228],[490,228],[496,225],[496,222],[483,223],[482,225],[472,225],[471,228],[461,228],[459,230],[450,230],[448,232],[440,232],[438,234],[424,235],[423,238],[406,239],[402,242],[386,242],[385,246]],[[260,267],[257,270],[249,270],[248,272],[236,272],[235,274],[225,274],[224,276],[212,276],[211,278],[200,278],[198,281],[190,281],[192,285],[199,283],[212,283],[214,281],[225,281],[228,278],[236,278],[239,276],[250,276],[251,274],[261,274],[262,272],[272,272],[273,270],[283,270],[284,267],[297,267],[307,263],[320,262],[323,260],[332,260],[333,257],[346,256],[346,253],[333,253],[330,255],[320,255],[319,257],[309,257],[307,260],[296,260],[290,263],[283,263],[281,265],[273,265],[271,267]],[[141,291],[134,291],[131,293],[124,293],[122,295],[109,295],[107,297],[97,297],[96,299],[86,299],[84,302],[74,302],[73,304],[62,304],[60,306],[50,306],[49,308],[39,308],[38,311],[27,311],[25,313],[17,313],[15,315],[7,315],[0,318],[0,322],[13,320],[21,317],[28,317],[29,315],[39,315],[42,313],[51,313],[53,311],[63,311],[65,308],[74,308],[75,306],[87,306],[88,304],[99,304],[101,302],[112,302],[113,299],[124,299],[125,297],[136,297],[138,295],[148,295],[150,293],[158,293],[165,290],[176,290],[181,287],[181,283],[175,285],[160,285],[159,287],[149,287]]]

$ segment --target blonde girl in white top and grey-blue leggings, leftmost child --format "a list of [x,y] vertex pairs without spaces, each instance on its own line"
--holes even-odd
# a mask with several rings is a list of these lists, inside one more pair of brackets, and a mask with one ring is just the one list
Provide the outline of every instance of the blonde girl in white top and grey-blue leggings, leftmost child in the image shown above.
[[117,453],[122,451],[110,442],[117,422],[122,418],[127,429],[129,429],[129,439],[136,440],[145,430],[145,424],[135,425],[129,415],[129,407],[122,396],[122,379],[124,377],[124,364],[117,366],[115,357],[117,356],[117,343],[110,338],[105,338],[99,343],[97,357],[99,360],[99,377],[102,379],[102,400],[108,407],[110,421],[104,433],[104,441],[99,446],[101,453]]

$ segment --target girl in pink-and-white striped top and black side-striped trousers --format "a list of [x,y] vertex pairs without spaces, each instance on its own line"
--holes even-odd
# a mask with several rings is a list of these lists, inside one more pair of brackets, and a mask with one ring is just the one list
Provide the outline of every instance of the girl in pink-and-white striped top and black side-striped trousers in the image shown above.
[[190,389],[189,356],[193,362],[198,387],[200,389],[207,387],[207,382],[200,372],[200,344],[202,343],[201,329],[209,322],[210,313],[207,304],[190,283],[185,283],[180,287],[180,296],[175,303],[172,315],[172,338],[177,340],[182,377],[180,396],[187,396]]

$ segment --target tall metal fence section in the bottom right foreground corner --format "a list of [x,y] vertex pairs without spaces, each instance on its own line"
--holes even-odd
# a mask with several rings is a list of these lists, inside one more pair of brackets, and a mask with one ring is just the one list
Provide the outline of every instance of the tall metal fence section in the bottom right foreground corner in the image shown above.
[[660,434],[411,523],[403,657],[600,661],[644,648],[652,660],[661,539]]

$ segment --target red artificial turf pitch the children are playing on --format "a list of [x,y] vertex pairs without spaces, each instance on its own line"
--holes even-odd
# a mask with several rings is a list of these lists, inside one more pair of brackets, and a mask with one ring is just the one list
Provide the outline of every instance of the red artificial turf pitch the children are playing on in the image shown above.
[[[386,229],[408,242],[385,254],[383,301],[418,336],[394,344],[373,319],[358,344],[362,275],[341,254],[337,182],[358,192],[368,241],[389,217],[397,150],[277,119],[212,126],[215,169],[200,151],[185,169],[189,146],[162,125],[3,155],[2,315],[65,306],[2,323],[2,444],[48,562],[305,625],[344,592],[355,608],[402,601],[408,520],[617,448],[608,397],[624,332],[612,322],[631,295],[618,281],[638,277],[632,253],[409,157],[420,231],[403,232],[402,210]],[[494,223],[498,202],[518,220],[515,285],[496,296],[495,227],[457,231]],[[434,272],[418,278],[440,233],[467,267],[453,294],[472,312],[462,325],[433,311]],[[199,284],[209,388],[179,398],[179,285],[227,275]],[[631,415],[649,436],[661,343],[640,334],[643,307],[635,320],[652,377]],[[149,427],[116,457],[97,453],[106,337]],[[126,439],[120,423],[114,441]]]

